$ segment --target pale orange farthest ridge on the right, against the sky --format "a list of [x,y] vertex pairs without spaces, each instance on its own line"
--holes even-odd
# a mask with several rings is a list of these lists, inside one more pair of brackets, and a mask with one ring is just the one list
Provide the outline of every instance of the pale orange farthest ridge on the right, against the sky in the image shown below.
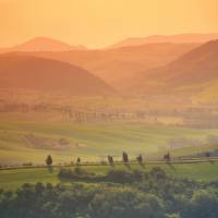
[[171,43],[171,44],[204,44],[209,40],[218,39],[218,34],[179,34],[179,35],[154,35],[148,37],[135,37],[128,38],[121,40],[110,47],[111,48],[120,48],[120,47],[129,47],[129,46],[140,46],[144,44],[162,44],[162,43]]

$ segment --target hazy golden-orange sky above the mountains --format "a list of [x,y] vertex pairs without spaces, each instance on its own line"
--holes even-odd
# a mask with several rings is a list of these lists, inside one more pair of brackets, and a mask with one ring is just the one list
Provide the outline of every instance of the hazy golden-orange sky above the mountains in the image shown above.
[[218,0],[0,0],[0,46],[35,36],[104,47],[128,37],[218,33]]

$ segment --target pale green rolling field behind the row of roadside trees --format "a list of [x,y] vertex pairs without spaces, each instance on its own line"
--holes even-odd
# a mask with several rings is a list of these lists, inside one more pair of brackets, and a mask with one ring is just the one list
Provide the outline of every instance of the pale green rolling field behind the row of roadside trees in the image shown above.
[[[34,134],[38,138],[65,138],[82,146],[39,149],[28,146],[24,140],[26,134]],[[172,138],[204,141],[210,134],[218,135],[218,130],[140,123],[69,124],[4,121],[0,123],[0,162],[44,164],[48,154],[52,155],[55,164],[70,162],[77,156],[82,157],[83,161],[100,161],[109,154],[119,159],[123,150],[132,157],[140,153],[148,156],[165,149]]]

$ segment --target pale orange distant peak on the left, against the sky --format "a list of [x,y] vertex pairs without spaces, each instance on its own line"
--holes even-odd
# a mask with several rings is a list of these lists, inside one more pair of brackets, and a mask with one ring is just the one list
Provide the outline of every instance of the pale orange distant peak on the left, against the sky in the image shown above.
[[21,45],[11,48],[1,48],[0,52],[11,51],[69,51],[69,50],[85,50],[84,46],[70,46],[63,41],[47,37],[36,37]]

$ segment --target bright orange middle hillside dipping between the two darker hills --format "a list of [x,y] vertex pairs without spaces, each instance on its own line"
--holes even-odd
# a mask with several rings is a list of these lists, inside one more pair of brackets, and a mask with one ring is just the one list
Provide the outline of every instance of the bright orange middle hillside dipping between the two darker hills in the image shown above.
[[128,85],[128,78],[135,73],[165,65],[197,46],[198,44],[150,44],[110,50],[71,50],[31,55],[80,65],[117,89],[122,89]]

